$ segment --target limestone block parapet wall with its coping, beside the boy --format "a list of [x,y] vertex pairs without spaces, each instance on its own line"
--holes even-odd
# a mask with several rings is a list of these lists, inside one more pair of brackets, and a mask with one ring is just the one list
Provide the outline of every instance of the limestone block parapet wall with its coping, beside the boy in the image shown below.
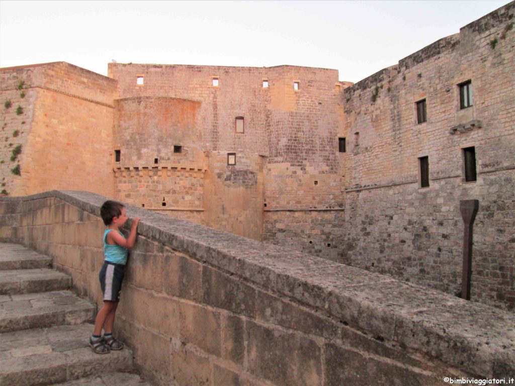
[[[2,198],[0,240],[52,256],[100,304],[105,200],[77,191]],[[157,384],[426,386],[515,372],[509,312],[146,209],[128,213],[142,221],[116,331]]]

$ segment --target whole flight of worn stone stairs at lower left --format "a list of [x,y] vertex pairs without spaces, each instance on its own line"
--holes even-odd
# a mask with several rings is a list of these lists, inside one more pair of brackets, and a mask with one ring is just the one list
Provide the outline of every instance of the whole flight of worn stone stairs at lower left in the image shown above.
[[124,348],[93,353],[95,307],[52,259],[0,243],[0,386],[150,386]]

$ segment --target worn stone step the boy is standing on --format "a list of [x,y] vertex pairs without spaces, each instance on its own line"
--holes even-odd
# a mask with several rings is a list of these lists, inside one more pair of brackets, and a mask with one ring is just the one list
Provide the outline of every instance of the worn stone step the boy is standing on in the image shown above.
[[95,354],[88,347],[92,331],[92,324],[80,324],[0,334],[0,385],[43,386],[130,371],[130,350]]

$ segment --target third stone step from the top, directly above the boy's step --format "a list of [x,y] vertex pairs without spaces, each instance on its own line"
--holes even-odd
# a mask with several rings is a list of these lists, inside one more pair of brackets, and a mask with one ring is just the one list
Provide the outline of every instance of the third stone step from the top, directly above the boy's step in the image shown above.
[[94,314],[91,303],[67,290],[0,296],[0,332],[80,324]]

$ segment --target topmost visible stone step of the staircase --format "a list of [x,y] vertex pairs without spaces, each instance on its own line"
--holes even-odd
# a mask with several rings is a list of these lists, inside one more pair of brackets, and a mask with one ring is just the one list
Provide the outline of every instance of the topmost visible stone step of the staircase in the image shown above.
[[22,245],[0,243],[0,270],[50,268],[52,259]]

